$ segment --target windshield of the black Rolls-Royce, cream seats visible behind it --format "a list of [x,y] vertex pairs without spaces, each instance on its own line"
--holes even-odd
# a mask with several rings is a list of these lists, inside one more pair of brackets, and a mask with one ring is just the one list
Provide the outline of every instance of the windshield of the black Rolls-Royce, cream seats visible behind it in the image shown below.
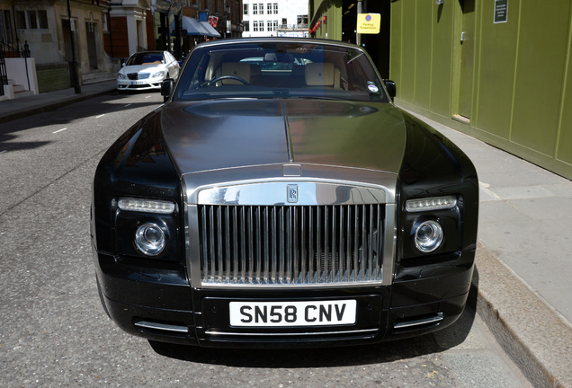
[[239,42],[196,48],[174,101],[327,98],[389,101],[360,48],[322,42]]

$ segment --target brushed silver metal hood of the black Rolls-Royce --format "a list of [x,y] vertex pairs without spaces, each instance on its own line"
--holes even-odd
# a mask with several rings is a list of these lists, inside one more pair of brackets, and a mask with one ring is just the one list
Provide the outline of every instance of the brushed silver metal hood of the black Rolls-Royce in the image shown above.
[[397,174],[406,145],[402,113],[388,103],[172,102],[161,127],[181,174],[287,163]]

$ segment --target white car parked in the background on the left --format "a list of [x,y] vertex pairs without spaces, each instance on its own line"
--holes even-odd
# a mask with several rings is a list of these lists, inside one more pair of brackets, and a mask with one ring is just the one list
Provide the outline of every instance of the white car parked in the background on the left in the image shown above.
[[176,79],[179,62],[168,51],[141,51],[133,54],[117,73],[117,89],[161,89],[167,78]]

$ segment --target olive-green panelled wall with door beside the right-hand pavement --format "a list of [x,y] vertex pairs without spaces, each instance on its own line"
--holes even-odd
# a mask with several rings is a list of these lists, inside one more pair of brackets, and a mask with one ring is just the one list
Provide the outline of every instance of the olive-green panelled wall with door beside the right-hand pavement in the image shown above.
[[572,179],[571,2],[507,3],[392,1],[396,101]]

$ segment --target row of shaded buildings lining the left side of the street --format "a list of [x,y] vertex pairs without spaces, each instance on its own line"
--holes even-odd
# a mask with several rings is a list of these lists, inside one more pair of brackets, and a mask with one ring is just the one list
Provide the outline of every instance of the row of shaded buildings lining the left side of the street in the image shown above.
[[[0,0],[0,48],[4,57],[26,51],[33,58],[44,93],[113,78],[137,51],[183,57],[214,36],[189,39],[183,17],[210,22],[218,37],[242,34],[241,0]],[[5,72],[0,60],[0,81],[8,84]]]

